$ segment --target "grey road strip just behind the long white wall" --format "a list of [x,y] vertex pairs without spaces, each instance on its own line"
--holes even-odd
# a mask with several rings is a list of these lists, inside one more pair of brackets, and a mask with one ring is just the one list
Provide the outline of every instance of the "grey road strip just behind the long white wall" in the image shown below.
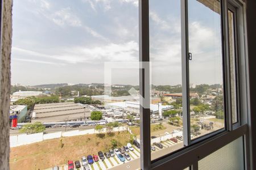
[[[105,127],[105,126],[104,126]],[[95,126],[79,126],[79,128],[66,128],[66,131],[71,131],[71,130],[86,130],[86,129],[94,129]],[[46,130],[44,131],[44,133],[53,133],[53,132],[57,132],[57,131],[65,131],[65,127],[61,127],[61,128],[46,128]],[[10,130],[10,135],[18,135],[19,130]]]

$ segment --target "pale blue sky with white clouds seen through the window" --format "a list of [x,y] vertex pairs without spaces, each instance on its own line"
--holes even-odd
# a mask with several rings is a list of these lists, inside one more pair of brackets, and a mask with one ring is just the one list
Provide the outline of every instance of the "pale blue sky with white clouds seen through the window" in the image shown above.
[[[222,84],[220,15],[196,0],[188,8],[190,83]],[[106,62],[137,65],[138,23],[137,0],[14,0],[11,83],[104,83]],[[152,84],[181,84],[180,23],[179,1],[150,1]],[[139,84],[138,69],[111,74]]]

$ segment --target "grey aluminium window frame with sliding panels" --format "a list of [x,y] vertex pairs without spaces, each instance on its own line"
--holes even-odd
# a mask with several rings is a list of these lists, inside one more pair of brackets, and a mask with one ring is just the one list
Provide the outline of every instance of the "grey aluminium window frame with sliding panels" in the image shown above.
[[[224,62],[224,103],[225,121],[224,129],[214,131],[193,141],[190,139],[190,115],[189,115],[189,74],[188,74],[188,0],[181,1],[181,62],[183,76],[183,135],[184,147],[169,155],[151,161],[150,152],[150,110],[141,105],[141,169],[185,169],[191,167],[198,168],[198,161],[205,156],[218,150],[222,146],[242,137],[245,141],[245,152],[250,152],[247,130],[247,118],[249,113],[249,78],[247,68],[247,45],[246,45],[246,15],[245,3],[240,0],[220,0],[221,1],[221,24],[222,24],[222,58]],[[237,40],[238,40],[238,77],[239,104],[238,122],[232,124],[232,112],[230,102],[230,77],[229,77],[229,42],[228,42],[228,4],[237,8]],[[139,0],[139,57],[140,61],[150,61],[149,53],[149,5],[148,0]],[[150,82],[149,76],[145,77],[144,71],[140,69],[140,92],[141,95],[148,96],[150,91],[145,91]],[[148,88],[149,89],[149,88]],[[143,101],[141,101],[143,102]],[[221,142],[220,142],[221,141]],[[250,169],[250,154],[245,156],[245,169]],[[185,160],[185,161],[184,161]]]

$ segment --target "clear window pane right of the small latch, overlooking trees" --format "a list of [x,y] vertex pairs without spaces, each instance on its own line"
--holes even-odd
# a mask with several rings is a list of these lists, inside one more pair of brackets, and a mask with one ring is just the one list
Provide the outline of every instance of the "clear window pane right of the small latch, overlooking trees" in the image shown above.
[[191,138],[224,128],[220,1],[188,1]]

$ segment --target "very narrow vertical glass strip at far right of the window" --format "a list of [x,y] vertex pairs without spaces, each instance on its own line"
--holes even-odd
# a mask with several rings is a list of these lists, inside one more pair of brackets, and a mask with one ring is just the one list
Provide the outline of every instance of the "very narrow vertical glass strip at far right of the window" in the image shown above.
[[232,122],[237,120],[237,76],[236,76],[236,42],[234,36],[234,13],[228,10],[229,22],[229,61],[230,61],[230,86],[232,102]]

